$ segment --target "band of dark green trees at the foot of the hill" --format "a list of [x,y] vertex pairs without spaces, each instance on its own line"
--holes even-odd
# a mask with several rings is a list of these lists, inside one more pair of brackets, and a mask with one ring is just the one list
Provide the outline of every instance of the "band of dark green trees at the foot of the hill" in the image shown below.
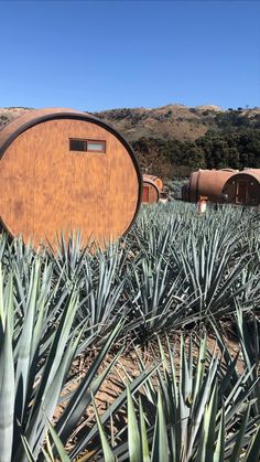
[[[132,142],[132,147],[143,169],[149,169],[152,159],[156,174],[164,176],[166,164],[171,172],[169,176],[173,170],[182,176],[194,169],[260,168],[260,129],[256,128],[243,127],[221,132],[208,130],[196,141],[140,138]],[[160,165],[164,165],[162,173],[159,171]]]

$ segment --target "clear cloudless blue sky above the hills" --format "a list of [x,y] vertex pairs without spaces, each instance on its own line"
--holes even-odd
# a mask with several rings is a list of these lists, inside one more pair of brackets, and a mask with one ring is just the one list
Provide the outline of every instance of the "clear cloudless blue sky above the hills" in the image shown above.
[[259,1],[2,1],[0,107],[260,106]]

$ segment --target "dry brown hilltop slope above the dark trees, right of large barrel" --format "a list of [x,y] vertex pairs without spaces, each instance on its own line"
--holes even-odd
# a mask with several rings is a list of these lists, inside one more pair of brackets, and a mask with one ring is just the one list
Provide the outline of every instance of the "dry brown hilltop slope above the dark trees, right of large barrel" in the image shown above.
[[188,108],[182,105],[167,105],[155,109],[111,109],[94,115],[112,125],[129,141],[140,138],[176,139],[195,141],[209,129],[217,129],[226,115],[236,114],[236,123],[260,127],[260,108],[230,109],[225,111],[217,106],[197,106]]

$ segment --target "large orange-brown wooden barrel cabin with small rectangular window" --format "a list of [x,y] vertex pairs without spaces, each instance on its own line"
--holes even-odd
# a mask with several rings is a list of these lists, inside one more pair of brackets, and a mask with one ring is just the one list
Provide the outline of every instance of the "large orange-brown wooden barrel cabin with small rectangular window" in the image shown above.
[[142,198],[131,147],[72,109],[28,111],[0,131],[0,217],[36,247],[80,230],[100,245],[128,232]]

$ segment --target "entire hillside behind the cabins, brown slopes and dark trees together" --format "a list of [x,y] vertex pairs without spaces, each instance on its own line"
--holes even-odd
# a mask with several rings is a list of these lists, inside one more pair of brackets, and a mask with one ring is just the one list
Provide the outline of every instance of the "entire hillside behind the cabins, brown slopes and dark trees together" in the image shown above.
[[[0,128],[29,108],[0,109]],[[197,168],[260,168],[260,108],[167,105],[94,112],[132,144],[141,169],[171,179]]]

